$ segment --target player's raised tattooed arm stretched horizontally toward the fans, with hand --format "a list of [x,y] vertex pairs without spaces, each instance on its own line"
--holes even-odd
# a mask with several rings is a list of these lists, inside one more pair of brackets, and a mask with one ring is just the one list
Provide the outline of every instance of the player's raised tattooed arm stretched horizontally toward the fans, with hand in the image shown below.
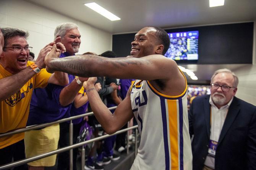
[[63,71],[83,77],[108,76],[154,80],[170,79],[178,72],[176,62],[161,55],[110,59],[88,54],[59,59],[55,51],[51,51],[45,57],[45,64],[49,71]]

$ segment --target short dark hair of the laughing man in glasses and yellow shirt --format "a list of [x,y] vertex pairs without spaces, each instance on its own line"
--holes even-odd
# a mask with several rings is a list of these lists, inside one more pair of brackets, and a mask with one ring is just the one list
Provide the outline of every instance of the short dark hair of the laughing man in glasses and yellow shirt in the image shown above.
[[3,33],[3,38],[5,40],[4,44],[3,44],[3,48],[6,47],[7,44],[7,40],[12,38],[12,37],[24,37],[25,39],[28,38],[29,33],[20,29],[16,29],[16,28],[1,28],[2,33]]

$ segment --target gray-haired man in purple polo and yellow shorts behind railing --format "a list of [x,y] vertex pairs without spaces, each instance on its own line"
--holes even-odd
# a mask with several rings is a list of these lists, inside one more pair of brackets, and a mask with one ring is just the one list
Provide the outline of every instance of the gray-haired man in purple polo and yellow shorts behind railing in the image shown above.
[[[81,35],[76,24],[63,23],[58,25],[55,29],[54,37],[61,37],[60,42],[66,48],[66,52],[61,54],[61,58],[74,55],[78,52]],[[48,84],[44,89],[38,88],[34,90],[27,126],[70,117],[71,103],[86,78],[75,78],[75,76],[69,74],[67,76],[69,84],[66,87]],[[69,132],[67,122],[26,132],[24,139],[26,157],[55,150],[58,147],[58,141],[60,141],[60,147],[66,146],[66,142],[69,140],[63,134],[67,132]],[[61,165],[65,164],[66,168],[68,168],[69,161],[66,161],[66,158],[64,159],[62,155],[65,158],[65,153],[61,153],[59,154],[58,161]],[[30,170],[44,170],[44,167],[54,166],[55,162],[56,154],[29,162],[28,165]]]

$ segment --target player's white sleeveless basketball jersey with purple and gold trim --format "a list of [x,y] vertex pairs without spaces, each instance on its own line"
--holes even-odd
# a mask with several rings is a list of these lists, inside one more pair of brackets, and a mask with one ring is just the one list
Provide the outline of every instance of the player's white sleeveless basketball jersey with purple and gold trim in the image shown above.
[[158,92],[149,81],[131,86],[131,106],[141,141],[131,170],[192,170],[187,86],[178,96]]

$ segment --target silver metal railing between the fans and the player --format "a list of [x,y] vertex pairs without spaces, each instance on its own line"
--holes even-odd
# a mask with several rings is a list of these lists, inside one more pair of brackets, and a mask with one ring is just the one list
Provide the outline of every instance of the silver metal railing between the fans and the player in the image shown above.
[[[113,110],[115,108],[117,108],[117,106],[110,107],[109,110]],[[82,118],[84,116],[90,116],[92,114],[93,114],[93,112],[89,112],[89,113],[85,113],[85,114],[80,114],[78,116],[72,116],[72,117],[69,117],[69,118],[60,119],[58,121],[54,121],[54,122],[50,122],[50,123],[32,125],[32,126],[28,126],[28,127],[22,128],[22,129],[16,129],[16,130],[12,130],[10,132],[6,132],[6,133],[0,134],[0,138],[1,138],[1,137],[5,137],[5,136],[8,136],[8,135],[14,135],[14,134],[26,132],[26,131],[29,131],[29,130],[35,130],[35,129],[51,126],[51,125],[56,124],[56,123],[62,123],[62,122],[70,121],[70,134],[69,134],[70,135],[70,145],[69,146],[66,146],[66,147],[63,147],[63,148],[60,148],[60,149],[56,149],[54,151],[50,151],[48,153],[39,154],[39,155],[30,157],[30,158],[26,158],[26,159],[23,159],[23,160],[18,160],[18,161],[15,161],[15,162],[11,162],[9,164],[0,165],[0,170],[5,169],[5,168],[17,167],[19,165],[26,164],[28,162],[32,162],[34,160],[42,159],[44,157],[51,156],[51,155],[58,154],[58,153],[62,153],[62,152],[68,151],[68,150],[70,150],[70,170],[73,170],[73,149],[74,148],[78,148],[78,147],[82,147],[81,170],[83,170],[84,169],[84,161],[85,161],[84,145],[86,145],[87,143],[91,143],[91,142],[94,142],[94,141],[98,141],[98,140],[102,140],[102,139],[108,138],[108,137],[113,136],[113,135],[117,135],[119,133],[127,132],[127,139],[126,139],[127,140],[127,146],[126,146],[127,150],[126,150],[126,153],[128,154],[129,153],[129,147],[128,147],[128,145],[129,145],[128,144],[128,141],[129,141],[128,140],[128,136],[129,135],[128,135],[128,130],[131,130],[131,129],[136,129],[135,152],[134,152],[135,156],[136,156],[137,149],[138,149],[138,142],[137,142],[138,141],[138,129],[137,129],[138,125],[132,126],[132,127],[128,127],[126,129],[119,130],[119,131],[113,133],[112,135],[103,135],[101,137],[93,138],[93,139],[90,139],[90,140],[87,140],[87,141],[83,141],[83,142],[80,142],[80,143],[76,143],[76,144],[73,145],[73,123],[72,123],[72,120],[73,119]]]

